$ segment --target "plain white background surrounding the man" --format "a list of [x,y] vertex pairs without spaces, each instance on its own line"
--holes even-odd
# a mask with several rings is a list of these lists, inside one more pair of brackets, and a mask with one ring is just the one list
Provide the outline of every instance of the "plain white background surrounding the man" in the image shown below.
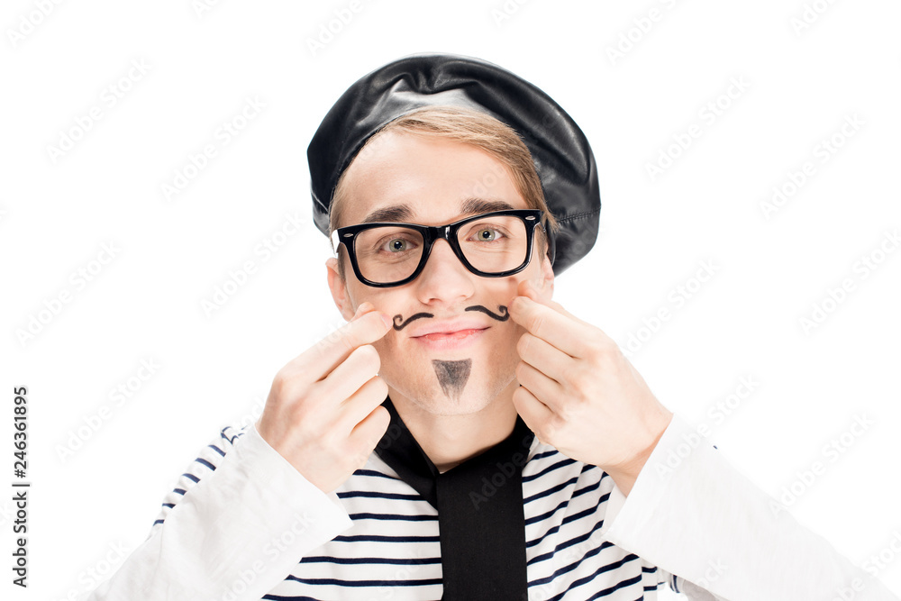
[[[0,494],[0,596],[74,598],[86,570],[121,562],[114,545],[141,544],[196,451],[258,414],[276,371],[341,326],[306,146],[354,80],[419,51],[495,62],[573,116],[596,155],[602,232],[555,299],[623,347],[641,336],[633,363],[661,402],[711,426],[771,495],[823,463],[791,512],[855,563],[889,550],[879,576],[901,593],[890,551],[901,542],[901,252],[878,252],[901,226],[896,2],[822,0],[793,25],[800,0],[511,0],[509,14],[502,2],[364,0],[315,51],[349,2],[224,0],[198,13],[190,0],[83,1],[46,15],[39,4],[10,0],[0,14],[0,486],[14,480],[14,386],[29,388],[32,482],[27,591],[10,584],[12,493]],[[659,18],[642,21],[651,9]],[[148,68],[129,81],[132,61]],[[746,89],[723,96],[739,79]],[[265,108],[221,144],[247,98]],[[101,118],[78,136],[95,106]],[[862,124],[843,137],[853,115]],[[700,136],[652,180],[647,166],[693,124]],[[74,147],[51,156],[73,130]],[[822,161],[818,145],[837,133],[841,148]],[[167,199],[162,185],[210,143],[214,159]],[[805,161],[814,175],[768,219],[761,204]],[[305,224],[264,260],[255,248],[287,214]],[[92,263],[110,243],[114,259]],[[882,261],[863,278],[855,264],[874,252]],[[247,260],[256,272],[207,315],[202,302]],[[714,277],[696,289],[705,260]],[[92,267],[77,287],[72,274]],[[851,293],[805,331],[844,278]],[[678,286],[695,289],[682,305]],[[70,302],[50,314],[63,291]],[[661,308],[669,320],[651,332]],[[22,341],[32,317],[45,323]],[[116,406],[110,390],[141,360],[160,367]],[[714,419],[741,378],[760,384]],[[107,419],[61,457],[103,405]],[[855,415],[873,424],[830,460],[824,445]]]

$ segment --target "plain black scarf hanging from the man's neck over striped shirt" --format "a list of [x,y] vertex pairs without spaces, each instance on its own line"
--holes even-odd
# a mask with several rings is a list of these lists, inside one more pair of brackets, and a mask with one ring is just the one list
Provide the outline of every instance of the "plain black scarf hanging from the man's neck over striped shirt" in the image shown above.
[[527,598],[523,465],[534,434],[516,416],[513,433],[440,474],[391,398],[376,453],[438,510],[444,601]]

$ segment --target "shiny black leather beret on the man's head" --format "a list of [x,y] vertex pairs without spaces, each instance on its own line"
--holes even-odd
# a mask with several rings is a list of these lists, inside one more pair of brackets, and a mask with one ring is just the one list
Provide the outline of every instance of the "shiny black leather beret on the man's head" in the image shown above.
[[595,157],[585,134],[550,96],[486,60],[451,54],[397,59],[360,78],[325,115],[307,149],[316,227],[328,235],[341,173],[363,143],[397,117],[426,105],[477,109],[523,139],[560,223],[548,230],[555,275],[594,246],[601,212]]

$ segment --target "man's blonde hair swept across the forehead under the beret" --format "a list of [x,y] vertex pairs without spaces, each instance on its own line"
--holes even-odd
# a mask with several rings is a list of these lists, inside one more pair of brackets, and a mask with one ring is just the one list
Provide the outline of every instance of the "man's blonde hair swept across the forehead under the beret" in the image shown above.
[[[525,143],[514,132],[513,128],[501,123],[489,114],[482,113],[471,108],[460,106],[434,105],[423,106],[414,111],[397,117],[387,123],[378,132],[369,137],[357,153],[357,157],[364,152],[373,150],[373,141],[378,141],[379,136],[385,132],[409,132],[419,135],[436,136],[445,140],[459,141],[485,150],[489,155],[497,159],[505,166],[514,187],[523,196],[526,205],[532,209],[544,211],[542,228],[538,229],[537,238],[541,241],[539,248],[548,252],[548,240],[546,233],[558,232],[560,224],[548,209],[544,199],[542,181],[535,170],[532,154]],[[354,157],[353,160],[356,160]],[[350,164],[353,164],[353,160]],[[332,206],[329,211],[329,237],[332,232],[341,227],[341,217],[344,207],[347,205],[347,185],[345,177],[350,170],[350,165],[345,168],[335,185],[332,196]],[[344,261],[339,247],[338,274],[343,281]]]

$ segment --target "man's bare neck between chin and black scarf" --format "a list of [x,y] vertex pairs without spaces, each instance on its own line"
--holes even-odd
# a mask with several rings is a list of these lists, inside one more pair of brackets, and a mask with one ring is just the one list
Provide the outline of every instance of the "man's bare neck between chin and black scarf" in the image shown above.
[[435,467],[445,472],[513,433],[516,423],[513,392],[517,387],[519,382],[514,378],[483,409],[463,415],[430,414],[393,388],[389,389],[389,396],[416,442]]

